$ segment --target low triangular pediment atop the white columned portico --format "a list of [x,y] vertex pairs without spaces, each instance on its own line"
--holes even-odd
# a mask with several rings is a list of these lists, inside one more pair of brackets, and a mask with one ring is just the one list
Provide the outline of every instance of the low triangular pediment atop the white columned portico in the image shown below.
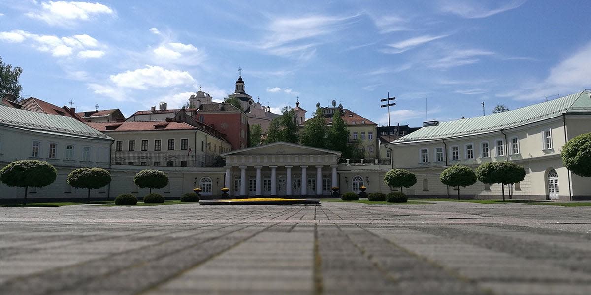
[[261,156],[261,155],[336,155],[340,152],[327,149],[313,148],[311,146],[297,145],[291,142],[274,142],[267,145],[253,146],[251,148],[234,150],[225,153],[225,156]]

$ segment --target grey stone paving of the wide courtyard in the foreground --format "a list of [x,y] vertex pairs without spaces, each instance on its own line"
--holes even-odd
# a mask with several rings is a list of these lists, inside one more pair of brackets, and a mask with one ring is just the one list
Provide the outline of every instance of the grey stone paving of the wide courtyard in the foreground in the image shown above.
[[0,208],[0,294],[590,294],[591,208]]

